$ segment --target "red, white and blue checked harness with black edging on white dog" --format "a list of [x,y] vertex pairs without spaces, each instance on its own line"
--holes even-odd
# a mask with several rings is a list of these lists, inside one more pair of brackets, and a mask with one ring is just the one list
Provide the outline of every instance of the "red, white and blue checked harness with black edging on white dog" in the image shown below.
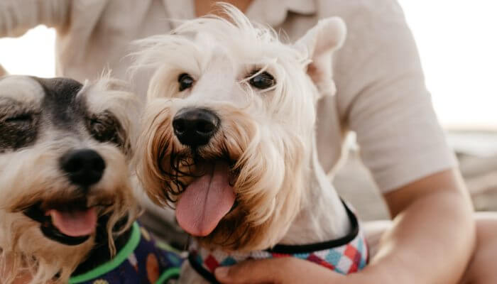
[[368,247],[356,215],[345,202],[344,206],[351,222],[351,232],[340,239],[302,246],[277,245],[273,249],[250,253],[209,251],[193,241],[188,261],[210,283],[218,283],[214,270],[219,266],[232,266],[247,259],[295,257],[312,261],[337,273],[354,273],[368,263]]

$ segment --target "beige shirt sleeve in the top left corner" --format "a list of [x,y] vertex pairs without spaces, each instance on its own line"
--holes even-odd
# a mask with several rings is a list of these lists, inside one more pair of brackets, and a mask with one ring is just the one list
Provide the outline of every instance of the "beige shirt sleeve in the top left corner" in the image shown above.
[[61,28],[70,13],[70,0],[1,0],[0,37],[16,37],[38,25]]

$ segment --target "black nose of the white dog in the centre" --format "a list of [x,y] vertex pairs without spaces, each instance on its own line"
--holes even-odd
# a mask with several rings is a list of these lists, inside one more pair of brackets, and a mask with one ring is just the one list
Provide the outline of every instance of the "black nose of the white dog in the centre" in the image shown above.
[[180,109],[173,119],[176,137],[183,145],[202,146],[216,133],[219,117],[208,109]]

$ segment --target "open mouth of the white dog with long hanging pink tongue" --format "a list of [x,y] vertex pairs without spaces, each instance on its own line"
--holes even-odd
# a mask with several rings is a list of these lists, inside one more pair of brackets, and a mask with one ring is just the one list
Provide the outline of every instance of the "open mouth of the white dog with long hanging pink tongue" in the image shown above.
[[[169,197],[175,195],[179,198],[176,217],[180,226],[194,236],[207,236],[234,207],[234,161],[227,155],[206,157],[195,149],[187,152],[193,155],[187,158],[171,155],[168,169],[175,173],[171,183],[179,191],[173,192],[168,184]],[[168,169],[161,171],[170,175]],[[170,198],[170,201],[175,200]]]

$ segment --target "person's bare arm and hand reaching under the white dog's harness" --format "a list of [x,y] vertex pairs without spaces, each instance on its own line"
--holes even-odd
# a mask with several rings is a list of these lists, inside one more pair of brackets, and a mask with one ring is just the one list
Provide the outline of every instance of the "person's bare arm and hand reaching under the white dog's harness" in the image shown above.
[[297,258],[251,261],[216,271],[222,283],[458,283],[471,257],[471,202],[457,170],[444,170],[386,196],[394,216],[363,271],[339,275]]

